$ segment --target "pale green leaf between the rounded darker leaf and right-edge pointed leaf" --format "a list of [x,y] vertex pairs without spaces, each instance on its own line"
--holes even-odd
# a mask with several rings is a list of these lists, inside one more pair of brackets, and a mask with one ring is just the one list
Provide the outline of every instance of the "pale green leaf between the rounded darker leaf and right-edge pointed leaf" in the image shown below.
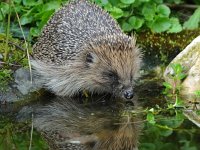
[[178,33],[182,31],[182,26],[178,20],[178,18],[170,18],[171,27],[167,31],[168,33]]

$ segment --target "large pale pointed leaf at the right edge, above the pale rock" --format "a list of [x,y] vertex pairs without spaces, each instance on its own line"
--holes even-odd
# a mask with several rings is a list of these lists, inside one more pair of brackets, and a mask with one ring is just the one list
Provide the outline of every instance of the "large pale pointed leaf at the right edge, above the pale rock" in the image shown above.
[[199,27],[200,23],[200,7],[197,8],[192,16],[190,16],[189,20],[184,22],[183,28],[184,29],[196,29]]

